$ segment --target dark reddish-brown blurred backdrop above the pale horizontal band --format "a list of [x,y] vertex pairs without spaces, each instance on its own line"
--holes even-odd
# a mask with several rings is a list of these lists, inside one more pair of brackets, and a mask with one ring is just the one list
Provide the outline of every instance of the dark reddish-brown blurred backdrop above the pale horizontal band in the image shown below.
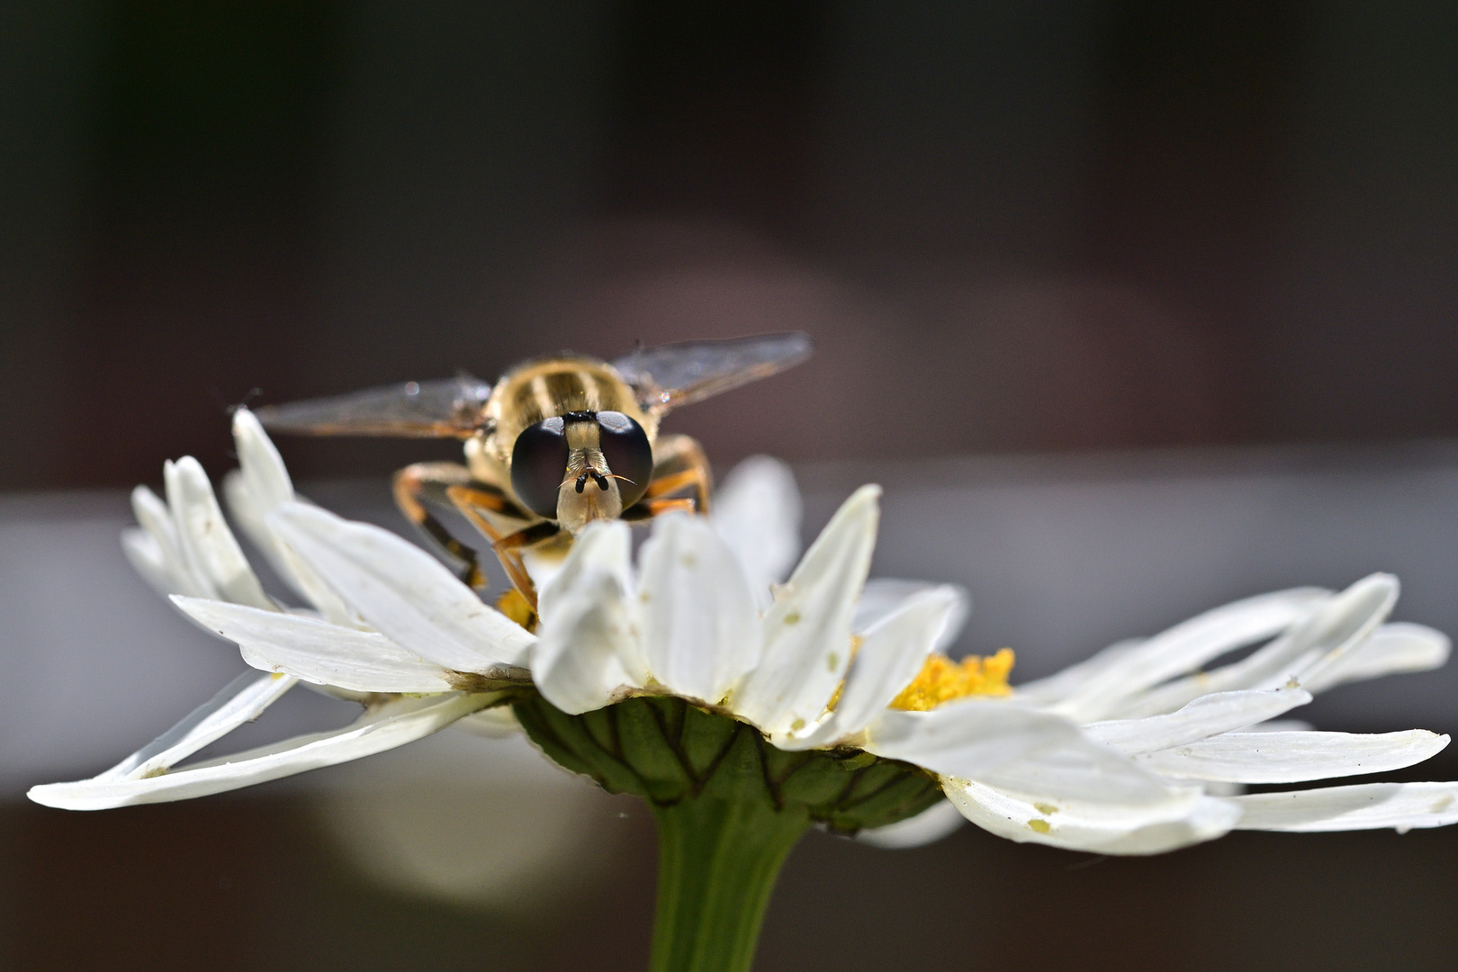
[[216,466],[255,388],[784,328],[674,420],[720,460],[1458,433],[1452,4],[3,17],[10,488]]

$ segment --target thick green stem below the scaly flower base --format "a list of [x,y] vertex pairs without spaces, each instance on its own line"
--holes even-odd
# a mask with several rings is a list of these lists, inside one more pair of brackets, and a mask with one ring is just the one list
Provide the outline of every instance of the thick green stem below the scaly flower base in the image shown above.
[[688,799],[655,806],[658,914],[650,972],[748,972],[770,892],[809,829],[802,807]]

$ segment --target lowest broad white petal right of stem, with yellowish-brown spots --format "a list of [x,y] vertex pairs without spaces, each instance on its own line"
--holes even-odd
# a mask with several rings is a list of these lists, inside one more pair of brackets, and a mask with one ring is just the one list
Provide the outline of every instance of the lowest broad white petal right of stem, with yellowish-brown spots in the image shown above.
[[1000,790],[970,780],[942,780],[942,790],[968,820],[997,836],[1095,854],[1161,854],[1229,832],[1241,810],[1197,787],[1163,800],[1064,800]]

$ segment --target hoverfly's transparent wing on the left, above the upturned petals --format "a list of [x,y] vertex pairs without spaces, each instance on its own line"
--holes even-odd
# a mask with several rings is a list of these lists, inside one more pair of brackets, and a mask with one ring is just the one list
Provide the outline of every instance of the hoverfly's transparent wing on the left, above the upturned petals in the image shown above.
[[459,375],[265,405],[255,414],[271,431],[306,436],[469,439],[481,426],[481,409],[490,395],[490,385]]

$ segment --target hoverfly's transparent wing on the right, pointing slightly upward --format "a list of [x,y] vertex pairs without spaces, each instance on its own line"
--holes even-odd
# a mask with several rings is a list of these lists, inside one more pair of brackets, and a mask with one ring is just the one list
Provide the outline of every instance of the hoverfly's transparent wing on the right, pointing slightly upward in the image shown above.
[[612,367],[633,386],[643,408],[662,414],[793,367],[814,348],[811,335],[792,331],[639,348]]

